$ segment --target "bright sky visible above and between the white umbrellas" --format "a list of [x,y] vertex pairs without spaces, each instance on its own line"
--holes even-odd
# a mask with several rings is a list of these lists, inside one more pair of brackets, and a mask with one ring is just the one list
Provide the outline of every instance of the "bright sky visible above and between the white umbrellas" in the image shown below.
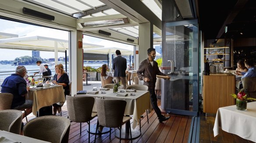
[[[30,24],[23,24],[19,22],[9,21],[0,19],[0,32],[9,34],[18,34],[19,37],[30,37],[30,36],[43,36],[57,39],[68,40],[68,31],[61,31],[52,28],[39,27]],[[103,45],[104,47],[117,47],[133,50],[132,45],[122,44],[114,41],[104,40],[96,37],[90,37],[84,35],[83,42],[90,44]],[[28,50],[13,50],[13,49],[2,49],[0,48],[0,61],[3,60],[14,60],[16,57],[31,56],[32,51]],[[64,52],[59,52],[58,57],[64,57]],[[54,52],[40,51],[41,58],[54,58]]]

